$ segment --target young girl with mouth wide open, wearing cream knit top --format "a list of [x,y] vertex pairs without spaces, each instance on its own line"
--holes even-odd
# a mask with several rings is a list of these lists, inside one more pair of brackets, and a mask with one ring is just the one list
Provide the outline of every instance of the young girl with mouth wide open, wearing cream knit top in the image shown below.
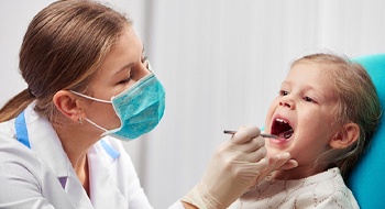
[[276,170],[230,208],[360,208],[344,180],[381,117],[366,70],[348,58],[295,61],[265,121],[267,155],[289,152],[298,166]]

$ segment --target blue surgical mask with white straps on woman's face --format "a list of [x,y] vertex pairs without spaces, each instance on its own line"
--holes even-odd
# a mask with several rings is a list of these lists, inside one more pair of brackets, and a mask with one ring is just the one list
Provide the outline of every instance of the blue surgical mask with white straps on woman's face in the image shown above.
[[112,97],[111,101],[72,92],[95,101],[112,103],[121,122],[120,128],[107,130],[87,118],[86,120],[103,130],[102,136],[111,135],[120,140],[133,140],[153,130],[161,121],[165,109],[165,91],[153,73]]

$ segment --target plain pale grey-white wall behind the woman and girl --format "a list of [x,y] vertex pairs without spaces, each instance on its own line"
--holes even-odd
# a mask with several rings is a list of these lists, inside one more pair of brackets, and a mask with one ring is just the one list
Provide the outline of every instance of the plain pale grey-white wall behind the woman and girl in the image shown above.
[[[0,1],[0,106],[26,87],[19,48],[29,22],[51,2]],[[383,0],[109,2],[133,19],[166,89],[160,125],[124,143],[154,208],[172,205],[199,180],[213,150],[229,139],[224,129],[263,127],[295,58],[385,50]]]

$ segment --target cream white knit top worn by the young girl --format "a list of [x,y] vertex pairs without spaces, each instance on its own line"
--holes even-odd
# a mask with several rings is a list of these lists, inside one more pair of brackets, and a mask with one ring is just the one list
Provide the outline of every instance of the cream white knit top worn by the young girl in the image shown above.
[[230,208],[355,209],[360,207],[352,191],[345,186],[340,169],[334,167],[297,180],[276,180],[266,177]]

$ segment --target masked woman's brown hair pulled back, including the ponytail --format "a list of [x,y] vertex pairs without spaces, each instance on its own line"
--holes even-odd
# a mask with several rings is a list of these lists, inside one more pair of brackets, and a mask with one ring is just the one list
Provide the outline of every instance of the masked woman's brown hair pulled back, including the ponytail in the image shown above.
[[34,100],[36,112],[51,119],[57,113],[53,96],[62,89],[84,91],[130,24],[123,14],[89,0],[56,1],[43,9],[30,23],[19,54],[28,89],[4,105],[0,121],[15,118]]

